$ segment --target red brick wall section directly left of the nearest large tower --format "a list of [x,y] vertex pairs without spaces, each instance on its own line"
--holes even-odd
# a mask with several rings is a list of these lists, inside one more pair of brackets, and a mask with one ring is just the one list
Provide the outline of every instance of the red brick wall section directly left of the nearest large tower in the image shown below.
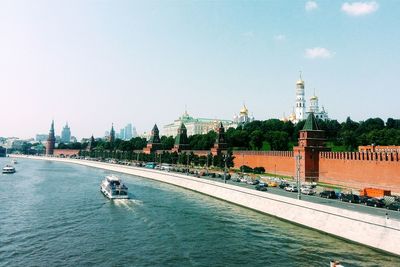
[[293,151],[235,151],[234,168],[242,165],[249,167],[264,167],[268,173],[293,176],[295,171],[295,159]]

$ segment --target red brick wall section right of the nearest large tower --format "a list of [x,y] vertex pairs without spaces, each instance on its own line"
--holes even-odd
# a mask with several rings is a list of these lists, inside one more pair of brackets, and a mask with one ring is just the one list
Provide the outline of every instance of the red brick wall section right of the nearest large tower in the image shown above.
[[399,155],[385,153],[322,152],[319,181],[362,189],[374,187],[400,193]]

